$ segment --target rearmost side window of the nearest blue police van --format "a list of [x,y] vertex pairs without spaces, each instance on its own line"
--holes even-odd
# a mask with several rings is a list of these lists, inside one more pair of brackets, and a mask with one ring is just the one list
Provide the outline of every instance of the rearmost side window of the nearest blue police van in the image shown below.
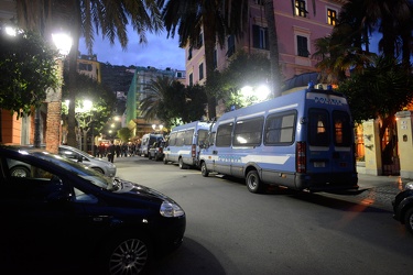
[[265,145],[293,143],[295,139],[296,112],[276,113],[267,118]]

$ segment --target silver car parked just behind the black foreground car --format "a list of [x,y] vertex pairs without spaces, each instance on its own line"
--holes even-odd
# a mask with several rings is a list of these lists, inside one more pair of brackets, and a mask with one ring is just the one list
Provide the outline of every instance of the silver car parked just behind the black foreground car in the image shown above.
[[[42,145],[42,147],[44,148],[45,146]],[[34,148],[34,147],[30,146],[30,148]],[[67,146],[67,145],[59,145],[58,154],[72,161],[79,162],[84,164],[85,166],[104,174],[105,176],[108,176],[108,177],[116,176],[117,168],[115,164],[106,160],[89,155],[88,153],[80,151],[78,148]],[[30,172],[29,167],[26,167],[24,163],[14,163],[14,165],[11,167],[11,174],[13,176],[25,177],[29,174],[29,172]]]

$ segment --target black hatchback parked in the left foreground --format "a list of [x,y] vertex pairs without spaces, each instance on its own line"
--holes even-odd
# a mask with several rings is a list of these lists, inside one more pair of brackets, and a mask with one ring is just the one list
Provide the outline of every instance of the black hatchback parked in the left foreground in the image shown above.
[[[26,177],[12,175],[15,162]],[[77,264],[137,274],[183,241],[186,216],[173,199],[41,148],[0,145],[0,264],[14,274]]]

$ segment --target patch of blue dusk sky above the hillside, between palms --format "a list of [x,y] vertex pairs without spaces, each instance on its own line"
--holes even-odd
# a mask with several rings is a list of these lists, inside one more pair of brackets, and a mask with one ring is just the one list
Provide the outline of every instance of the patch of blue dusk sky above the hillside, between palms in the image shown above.
[[[148,33],[148,44],[139,44],[139,38],[131,28],[128,29],[128,48],[122,51],[119,42],[110,45],[109,40],[95,36],[94,53],[98,62],[124,66],[152,66],[159,69],[185,69],[185,51],[178,47],[178,38],[166,38],[166,32],[159,35]],[[87,54],[84,40],[80,38],[79,51]]]

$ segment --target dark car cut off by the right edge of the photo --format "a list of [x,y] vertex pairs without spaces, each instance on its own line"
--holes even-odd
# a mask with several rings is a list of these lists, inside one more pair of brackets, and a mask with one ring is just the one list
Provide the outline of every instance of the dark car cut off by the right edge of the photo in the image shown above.
[[393,218],[400,221],[413,234],[413,183],[407,183],[394,200]]

